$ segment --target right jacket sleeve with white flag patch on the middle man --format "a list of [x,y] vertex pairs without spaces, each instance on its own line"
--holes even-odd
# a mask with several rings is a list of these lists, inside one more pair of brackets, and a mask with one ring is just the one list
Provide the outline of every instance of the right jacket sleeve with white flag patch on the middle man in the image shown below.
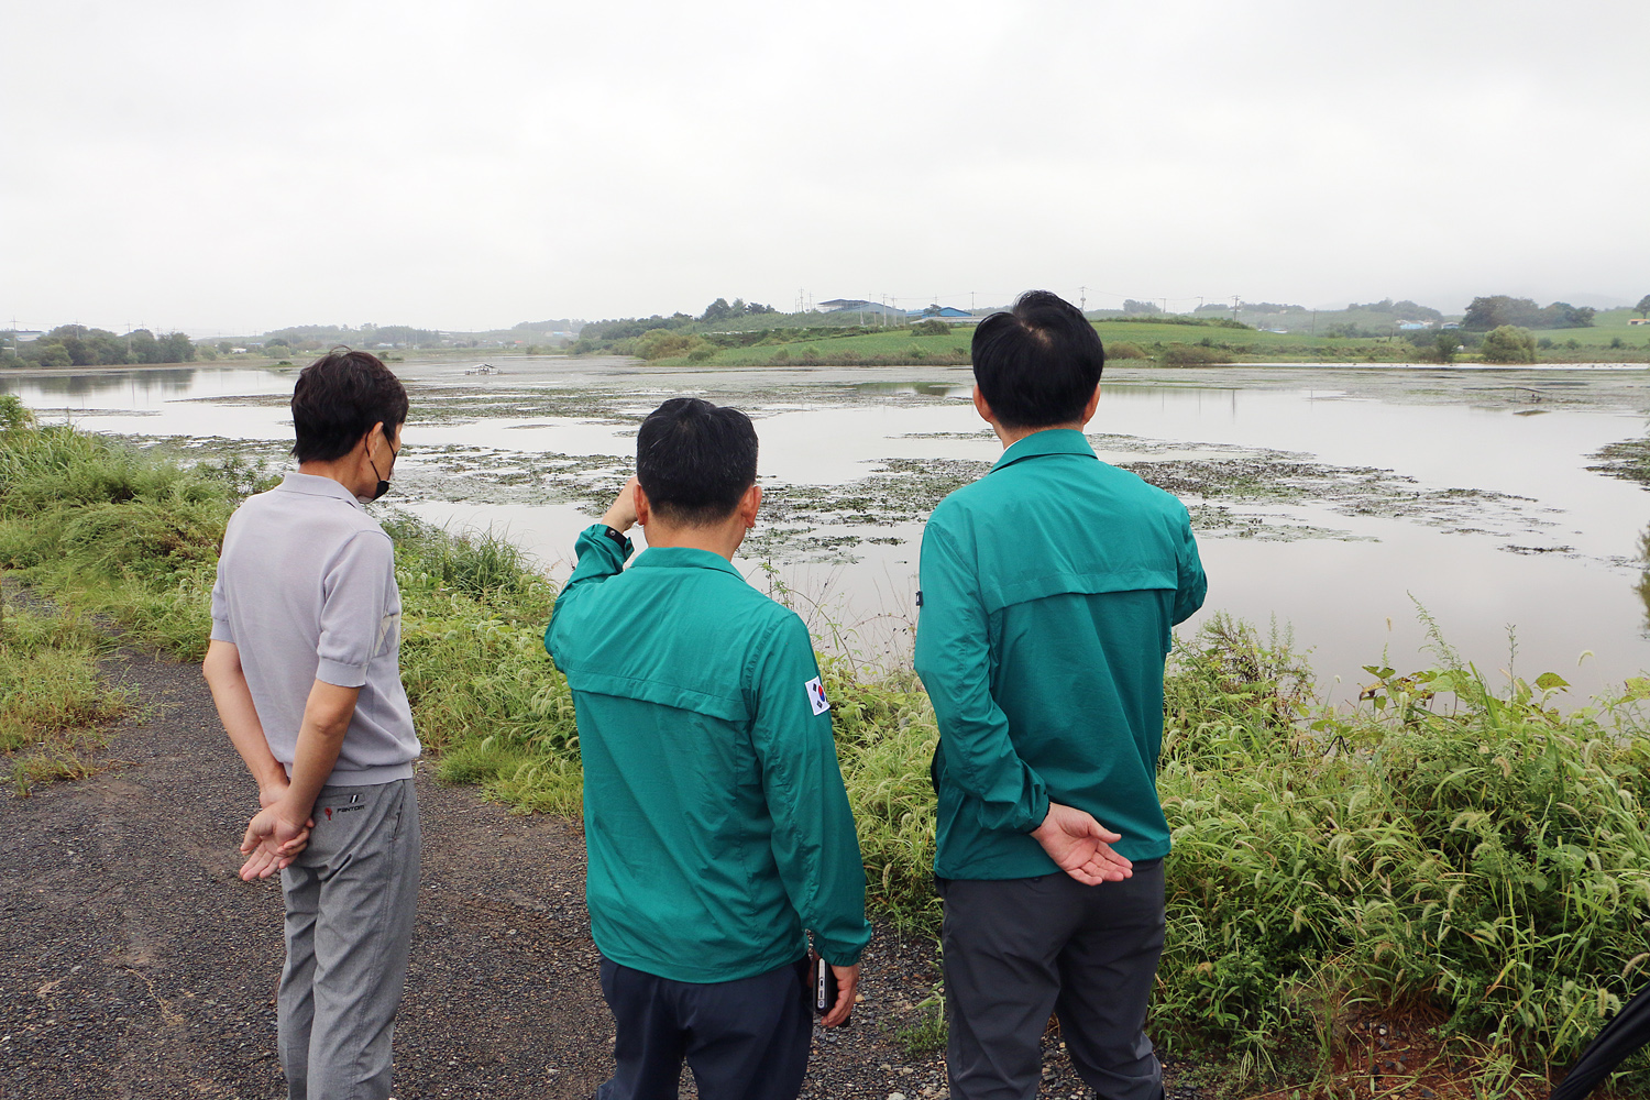
[[756,704],[751,742],[774,823],[779,877],[825,961],[853,966],[871,940],[865,863],[813,642],[800,618],[790,615],[769,632],[749,683]]

